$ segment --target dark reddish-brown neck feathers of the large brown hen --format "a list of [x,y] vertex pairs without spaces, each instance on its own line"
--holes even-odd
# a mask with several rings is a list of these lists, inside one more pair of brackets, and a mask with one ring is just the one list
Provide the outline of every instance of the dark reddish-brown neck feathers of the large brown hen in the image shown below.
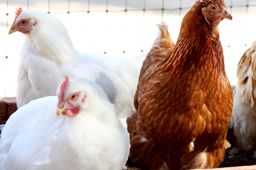
[[192,7],[182,21],[174,49],[164,60],[167,64],[165,71],[174,69],[175,73],[181,74],[201,67],[206,60],[212,62],[213,69],[225,72],[218,27],[206,22],[201,7]]

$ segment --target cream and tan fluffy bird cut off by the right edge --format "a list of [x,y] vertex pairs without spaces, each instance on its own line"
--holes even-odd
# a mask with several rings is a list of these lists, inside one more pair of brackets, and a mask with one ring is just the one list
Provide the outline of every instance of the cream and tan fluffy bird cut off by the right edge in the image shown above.
[[238,85],[229,127],[244,150],[256,147],[256,42],[254,42],[238,63]]

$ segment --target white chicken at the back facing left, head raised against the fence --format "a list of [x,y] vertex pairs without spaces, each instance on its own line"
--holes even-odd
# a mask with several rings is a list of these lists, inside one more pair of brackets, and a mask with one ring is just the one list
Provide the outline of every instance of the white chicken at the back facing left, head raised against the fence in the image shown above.
[[119,117],[131,116],[140,68],[146,53],[134,58],[106,57],[79,53],[64,25],[56,17],[35,10],[17,9],[9,34],[26,35],[20,54],[17,106],[45,96],[53,96],[65,77],[96,82],[116,105]]

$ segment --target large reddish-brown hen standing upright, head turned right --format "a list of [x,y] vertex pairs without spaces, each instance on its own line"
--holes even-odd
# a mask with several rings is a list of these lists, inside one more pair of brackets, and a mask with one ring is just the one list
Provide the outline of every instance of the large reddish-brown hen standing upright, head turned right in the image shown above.
[[127,125],[129,157],[142,169],[215,168],[230,147],[233,92],[218,32],[224,18],[232,20],[224,0],[197,0],[170,55],[141,77]]

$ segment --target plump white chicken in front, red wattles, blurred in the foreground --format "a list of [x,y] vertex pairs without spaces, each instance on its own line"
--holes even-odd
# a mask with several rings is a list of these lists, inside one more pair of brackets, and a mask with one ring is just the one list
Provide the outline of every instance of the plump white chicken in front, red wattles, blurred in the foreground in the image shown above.
[[11,115],[0,139],[0,169],[123,169],[129,134],[102,88],[66,77],[57,94]]

